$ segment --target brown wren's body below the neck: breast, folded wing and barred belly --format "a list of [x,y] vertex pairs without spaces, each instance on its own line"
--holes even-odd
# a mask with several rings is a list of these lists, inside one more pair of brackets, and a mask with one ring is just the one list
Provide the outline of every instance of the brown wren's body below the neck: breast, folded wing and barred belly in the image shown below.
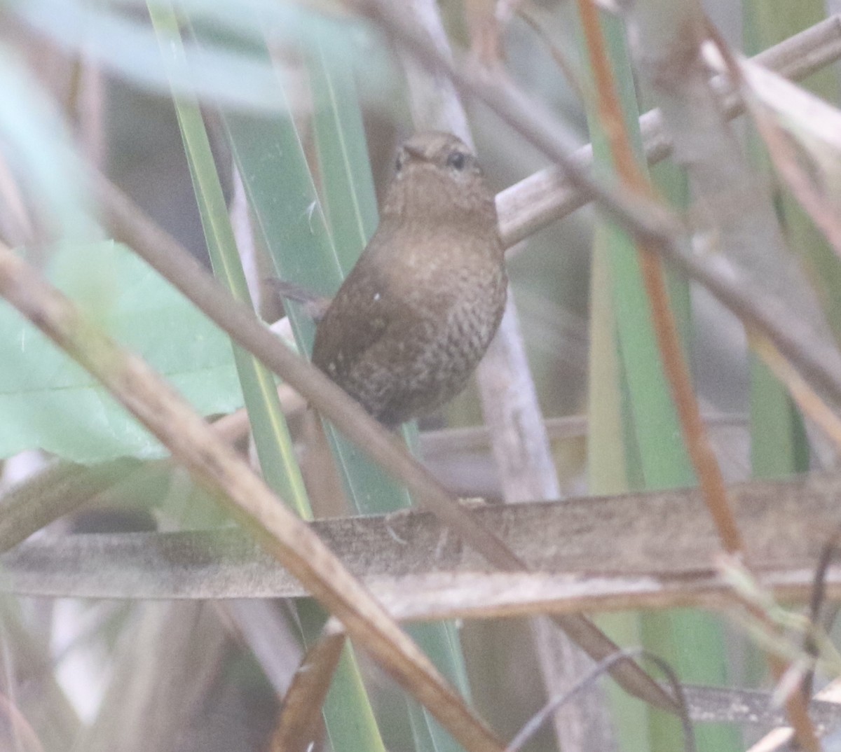
[[430,233],[408,251],[381,241],[320,323],[313,360],[395,425],[463,389],[499,326],[508,280],[495,238]]

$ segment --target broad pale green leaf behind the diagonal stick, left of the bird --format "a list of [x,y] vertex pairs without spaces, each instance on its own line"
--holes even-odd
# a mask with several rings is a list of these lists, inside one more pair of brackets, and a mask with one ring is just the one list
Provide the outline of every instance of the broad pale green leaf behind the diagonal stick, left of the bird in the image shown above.
[[[141,355],[203,415],[242,407],[230,341],[192,302],[129,250],[105,241],[63,245],[47,276],[70,291],[91,260],[112,266],[100,323]],[[160,457],[161,444],[56,345],[0,302],[0,456],[40,448],[93,463]]]

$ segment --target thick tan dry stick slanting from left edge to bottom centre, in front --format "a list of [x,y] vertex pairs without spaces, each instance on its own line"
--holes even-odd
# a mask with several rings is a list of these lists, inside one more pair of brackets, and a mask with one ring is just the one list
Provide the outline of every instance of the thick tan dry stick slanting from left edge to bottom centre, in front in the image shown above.
[[145,361],[114,344],[37,271],[3,247],[0,294],[101,381],[198,479],[219,492],[262,547],[340,618],[353,639],[466,749],[502,749],[368,590]]

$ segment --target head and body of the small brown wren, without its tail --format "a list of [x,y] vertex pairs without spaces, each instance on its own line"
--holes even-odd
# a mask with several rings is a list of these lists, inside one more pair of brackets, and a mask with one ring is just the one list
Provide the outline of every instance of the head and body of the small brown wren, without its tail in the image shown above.
[[379,227],[318,324],[313,362],[388,426],[461,392],[507,289],[494,193],[451,134],[403,145]]

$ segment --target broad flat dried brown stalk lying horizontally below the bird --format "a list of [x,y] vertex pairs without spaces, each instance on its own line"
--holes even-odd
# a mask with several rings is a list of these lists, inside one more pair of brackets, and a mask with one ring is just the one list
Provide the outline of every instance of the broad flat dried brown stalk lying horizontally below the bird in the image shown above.
[[[822,548],[841,523],[841,474],[753,481],[728,492],[760,580],[806,599]],[[331,519],[312,523],[312,529],[399,618],[729,602],[728,587],[713,566],[721,544],[700,491],[482,505],[467,513],[499,531],[534,571],[489,571],[480,555],[429,513]],[[305,595],[236,530],[31,540],[0,557],[0,564],[0,588],[32,595]],[[830,570],[828,587],[838,595],[841,571]]]

